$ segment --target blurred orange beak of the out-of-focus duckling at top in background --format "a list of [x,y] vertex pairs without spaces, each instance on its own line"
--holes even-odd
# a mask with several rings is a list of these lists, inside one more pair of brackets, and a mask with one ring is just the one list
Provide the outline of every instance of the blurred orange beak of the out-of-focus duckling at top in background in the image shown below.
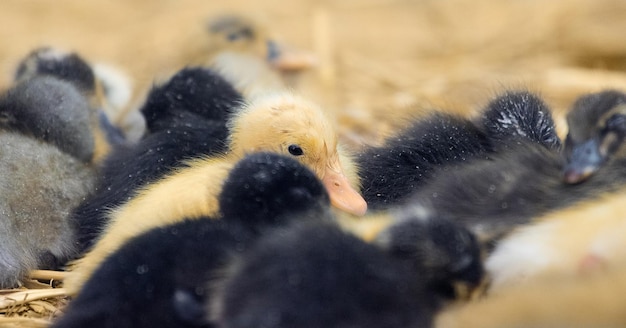
[[317,65],[317,59],[311,53],[296,50],[267,41],[267,60],[276,69],[287,72],[302,71]]

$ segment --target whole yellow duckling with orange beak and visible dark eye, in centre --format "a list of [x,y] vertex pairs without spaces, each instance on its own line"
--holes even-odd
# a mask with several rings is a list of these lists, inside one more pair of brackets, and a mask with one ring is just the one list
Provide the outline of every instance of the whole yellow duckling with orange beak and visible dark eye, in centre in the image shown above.
[[365,214],[367,204],[356,191],[356,170],[338,147],[335,129],[317,105],[288,93],[264,95],[244,105],[229,128],[228,153],[189,161],[187,167],[139,191],[110,213],[100,240],[73,264],[65,281],[70,293],[78,292],[101,261],[133,236],[182,218],[218,215],[222,182],[247,153],[271,151],[294,156],[323,181],[333,206]]

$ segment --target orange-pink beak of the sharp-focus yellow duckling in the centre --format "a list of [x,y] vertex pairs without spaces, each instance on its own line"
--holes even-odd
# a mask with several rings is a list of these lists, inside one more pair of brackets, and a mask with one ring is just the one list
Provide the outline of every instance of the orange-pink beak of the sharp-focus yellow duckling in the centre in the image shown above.
[[327,167],[322,183],[328,190],[330,203],[336,208],[357,216],[365,215],[367,203],[354,188],[341,170]]

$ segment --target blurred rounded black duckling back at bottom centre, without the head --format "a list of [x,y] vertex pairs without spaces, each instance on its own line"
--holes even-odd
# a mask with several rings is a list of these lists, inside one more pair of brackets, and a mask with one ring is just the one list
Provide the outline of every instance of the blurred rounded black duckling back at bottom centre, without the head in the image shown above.
[[428,327],[419,275],[332,223],[274,231],[233,263],[210,311],[219,327]]

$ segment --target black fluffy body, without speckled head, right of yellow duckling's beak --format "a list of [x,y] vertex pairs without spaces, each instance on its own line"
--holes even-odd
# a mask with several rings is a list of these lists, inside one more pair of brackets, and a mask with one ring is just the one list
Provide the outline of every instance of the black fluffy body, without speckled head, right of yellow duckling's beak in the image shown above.
[[387,139],[380,147],[357,154],[361,192],[370,210],[397,204],[452,163],[484,158],[489,144],[469,120],[433,113]]

